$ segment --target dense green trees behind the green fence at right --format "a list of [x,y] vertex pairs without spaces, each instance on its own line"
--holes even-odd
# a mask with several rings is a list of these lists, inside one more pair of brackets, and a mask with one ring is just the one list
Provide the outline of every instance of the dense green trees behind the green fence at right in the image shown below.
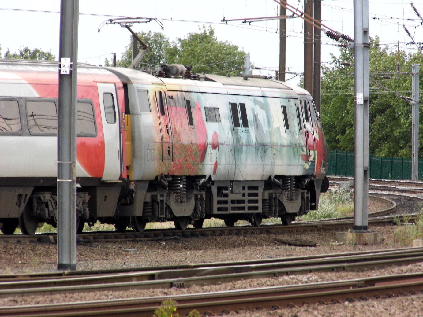
[[[330,150],[354,150],[354,54],[340,49],[332,55],[331,67],[322,66],[321,120]],[[380,47],[379,38],[370,39],[370,148],[384,157],[411,156],[411,97],[413,63],[422,63],[420,53],[406,54]],[[397,71],[399,63],[400,71]],[[420,91],[423,78],[420,76]],[[420,105],[422,104],[420,98]],[[420,110],[420,122],[423,114]],[[420,135],[423,126],[420,124]],[[423,138],[420,137],[420,153]]]

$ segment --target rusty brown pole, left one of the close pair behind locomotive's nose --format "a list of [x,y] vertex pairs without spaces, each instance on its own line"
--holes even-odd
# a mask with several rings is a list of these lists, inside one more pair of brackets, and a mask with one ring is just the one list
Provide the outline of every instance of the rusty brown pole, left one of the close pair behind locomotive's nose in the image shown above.
[[[313,16],[313,1],[305,0],[304,13]],[[307,23],[304,18],[304,89],[313,97],[313,23]],[[311,22],[311,19],[308,19]]]

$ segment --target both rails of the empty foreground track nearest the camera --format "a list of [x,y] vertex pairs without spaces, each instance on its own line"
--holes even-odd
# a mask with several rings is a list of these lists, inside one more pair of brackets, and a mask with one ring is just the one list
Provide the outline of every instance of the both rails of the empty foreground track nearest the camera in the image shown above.
[[[38,273],[0,276],[0,297],[53,295],[98,290],[134,290],[189,287],[235,280],[305,274],[327,271],[363,271],[421,262],[421,248],[361,251],[353,254],[266,259],[231,263],[207,263],[140,270],[100,272]],[[92,314],[151,314],[162,301],[176,300],[179,313],[199,309],[201,314],[220,314],[239,309],[275,309],[287,305],[334,303],[412,294],[423,290],[423,273],[354,279],[295,286],[264,287],[254,290],[224,291],[203,294],[133,298],[117,301],[90,301],[55,305],[0,307],[0,316],[82,316]]]

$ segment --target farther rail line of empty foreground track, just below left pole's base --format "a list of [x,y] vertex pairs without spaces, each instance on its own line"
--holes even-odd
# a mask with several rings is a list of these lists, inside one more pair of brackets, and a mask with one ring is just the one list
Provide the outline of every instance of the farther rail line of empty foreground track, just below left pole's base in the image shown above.
[[322,257],[313,260],[274,261],[260,264],[227,265],[179,270],[141,271],[125,274],[78,276],[67,279],[5,281],[0,298],[54,295],[107,290],[133,290],[217,284],[244,279],[269,278],[310,272],[356,271],[423,262],[423,250],[386,251],[378,254]]

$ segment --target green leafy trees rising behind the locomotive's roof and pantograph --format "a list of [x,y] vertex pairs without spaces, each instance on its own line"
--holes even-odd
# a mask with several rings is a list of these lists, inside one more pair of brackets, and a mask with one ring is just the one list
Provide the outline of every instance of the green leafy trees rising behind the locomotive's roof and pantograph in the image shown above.
[[[246,53],[228,41],[218,41],[212,27],[203,27],[200,31],[189,33],[185,38],[177,38],[172,43],[162,33],[138,33],[150,48],[140,64],[160,66],[163,63],[176,63],[190,65],[192,71],[198,74],[243,74]],[[132,61],[132,37],[122,55],[123,58],[116,62],[116,66],[128,67]]]

